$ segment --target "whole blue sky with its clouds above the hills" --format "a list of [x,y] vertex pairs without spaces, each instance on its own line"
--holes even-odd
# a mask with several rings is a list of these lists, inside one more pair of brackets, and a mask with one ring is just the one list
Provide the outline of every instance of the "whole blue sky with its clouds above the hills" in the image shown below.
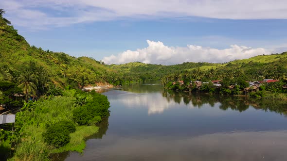
[[287,50],[287,1],[7,0],[30,45],[108,64],[228,62]]

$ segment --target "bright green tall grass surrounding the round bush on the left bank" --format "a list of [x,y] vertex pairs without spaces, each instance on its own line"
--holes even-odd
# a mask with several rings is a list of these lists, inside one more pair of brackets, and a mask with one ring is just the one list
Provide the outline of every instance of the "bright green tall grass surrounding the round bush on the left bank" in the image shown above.
[[[72,94],[66,93],[66,96]],[[74,97],[54,97],[51,100],[40,100],[34,111],[17,113],[16,127],[23,127],[22,142],[16,147],[16,152],[10,161],[46,161],[49,154],[65,151],[83,152],[85,139],[98,132],[96,126],[77,126],[71,133],[71,141],[61,148],[54,148],[44,142],[42,133],[46,131],[46,124],[60,120],[72,120]]]

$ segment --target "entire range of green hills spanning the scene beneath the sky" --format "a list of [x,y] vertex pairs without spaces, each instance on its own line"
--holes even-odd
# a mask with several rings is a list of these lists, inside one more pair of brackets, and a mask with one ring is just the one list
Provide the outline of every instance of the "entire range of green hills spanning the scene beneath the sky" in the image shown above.
[[[246,80],[283,79],[287,75],[287,53],[255,56],[225,64],[191,63],[176,65],[111,64],[88,57],[72,57],[63,52],[44,51],[30,46],[10,22],[0,15],[0,81],[20,84],[21,76],[33,76],[37,93],[49,84],[83,87],[97,82],[123,84],[130,81],[176,79],[215,80],[243,77]],[[179,78],[178,78],[179,77]]]

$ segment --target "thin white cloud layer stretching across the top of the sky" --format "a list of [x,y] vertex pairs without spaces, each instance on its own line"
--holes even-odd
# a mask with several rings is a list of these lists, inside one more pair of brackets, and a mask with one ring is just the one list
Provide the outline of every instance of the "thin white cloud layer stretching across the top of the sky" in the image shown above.
[[287,19],[286,0],[4,0],[1,8],[14,24],[30,28],[122,17]]

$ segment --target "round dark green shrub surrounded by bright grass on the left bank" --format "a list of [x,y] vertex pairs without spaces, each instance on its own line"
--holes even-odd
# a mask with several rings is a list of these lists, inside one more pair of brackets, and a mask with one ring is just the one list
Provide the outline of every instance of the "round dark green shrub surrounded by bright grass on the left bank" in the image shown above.
[[44,141],[54,147],[61,147],[68,144],[71,140],[70,132],[64,124],[53,124],[43,133]]

